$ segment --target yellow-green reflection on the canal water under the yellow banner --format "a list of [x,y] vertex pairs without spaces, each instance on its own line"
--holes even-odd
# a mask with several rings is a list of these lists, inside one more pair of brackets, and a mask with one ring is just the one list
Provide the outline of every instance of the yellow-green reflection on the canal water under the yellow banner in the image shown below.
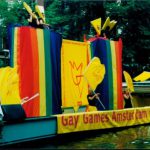
[[83,138],[80,141],[72,141],[65,144],[58,144],[57,149],[141,149],[150,148],[150,126],[137,126],[116,131],[111,129],[108,132],[96,136]]

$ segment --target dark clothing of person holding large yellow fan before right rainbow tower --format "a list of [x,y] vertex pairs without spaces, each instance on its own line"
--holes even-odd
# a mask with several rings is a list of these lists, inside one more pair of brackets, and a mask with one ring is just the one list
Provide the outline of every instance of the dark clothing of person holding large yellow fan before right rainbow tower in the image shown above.
[[94,98],[92,100],[89,99],[89,97],[92,97],[94,94],[88,94],[87,99],[90,106],[95,106],[97,110],[101,110],[101,104],[97,98]]

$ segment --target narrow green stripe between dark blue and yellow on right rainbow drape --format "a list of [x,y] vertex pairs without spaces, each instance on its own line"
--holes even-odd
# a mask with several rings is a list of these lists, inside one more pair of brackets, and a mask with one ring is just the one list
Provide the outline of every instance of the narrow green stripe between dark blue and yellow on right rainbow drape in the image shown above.
[[108,64],[108,87],[109,87],[109,110],[113,109],[113,71],[112,71],[112,55],[110,41],[106,41],[107,48],[107,64]]

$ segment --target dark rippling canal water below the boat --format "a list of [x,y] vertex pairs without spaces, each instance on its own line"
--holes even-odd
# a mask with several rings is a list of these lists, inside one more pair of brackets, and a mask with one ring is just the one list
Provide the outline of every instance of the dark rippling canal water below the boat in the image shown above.
[[15,145],[40,149],[150,149],[150,125],[60,135]]

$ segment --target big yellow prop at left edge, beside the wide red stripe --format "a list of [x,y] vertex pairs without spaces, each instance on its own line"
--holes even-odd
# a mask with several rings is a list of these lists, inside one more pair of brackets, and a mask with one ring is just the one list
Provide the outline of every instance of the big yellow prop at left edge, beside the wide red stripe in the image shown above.
[[0,68],[0,98],[2,105],[21,104],[16,68]]

